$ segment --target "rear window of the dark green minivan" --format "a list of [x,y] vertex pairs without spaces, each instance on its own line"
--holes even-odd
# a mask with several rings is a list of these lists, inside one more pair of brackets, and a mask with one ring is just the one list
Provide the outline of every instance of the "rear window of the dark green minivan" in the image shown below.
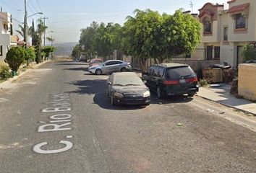
[[181,79],[182,77],[190,78],[194,76],[196,74],[189,66],[166,69],[166,79]]

